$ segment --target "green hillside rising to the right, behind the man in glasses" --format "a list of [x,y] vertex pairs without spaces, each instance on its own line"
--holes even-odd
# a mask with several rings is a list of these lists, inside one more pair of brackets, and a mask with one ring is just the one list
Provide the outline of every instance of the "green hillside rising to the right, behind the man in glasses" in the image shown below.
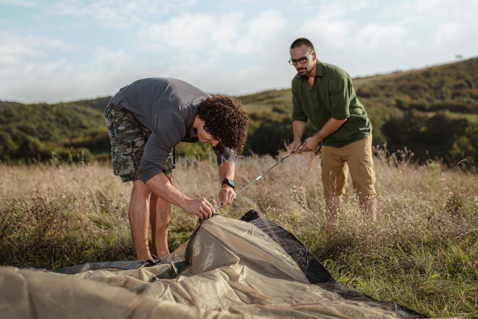
[[[447,163],[478,162],[478,58],[353,83],[372,122],[374,145],[387,142],[393,151],[407,146],[420,161],[437,156]],[[239,99],[253,121],[249,146],[254,153],[274,153],[292,138],[290,89]],[[277,138],[261,142],[262,136]]]

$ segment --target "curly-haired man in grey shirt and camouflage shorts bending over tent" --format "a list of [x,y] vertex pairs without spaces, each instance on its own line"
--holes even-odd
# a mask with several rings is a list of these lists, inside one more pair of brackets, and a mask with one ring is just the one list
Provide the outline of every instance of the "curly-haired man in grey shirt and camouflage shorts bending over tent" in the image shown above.
[[179,142],[211,143],[222,181],[218,197],[223,206],[236,198],[232,149],[244,145],[248,126],[238,101],[211,97],[174,78],[152,77],[121,88],[104,115],[113,172],[123,183],[133,182],[128,217],[138,260],[169,254],[170,204],[201,220],[214,213],[205,198],[188,198],[173,186],[174,147]]

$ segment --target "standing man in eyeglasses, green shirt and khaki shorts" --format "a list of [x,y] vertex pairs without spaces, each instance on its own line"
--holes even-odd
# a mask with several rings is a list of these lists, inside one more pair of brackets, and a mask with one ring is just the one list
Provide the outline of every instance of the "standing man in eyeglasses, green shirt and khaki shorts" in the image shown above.
[[[312,43],[300,38],[290,48],[289,63],[297,70],[292,79],[294,153],[314,151],[322,142],[322,182],[327,202],[326,229],[331,231],[341,210],[348,171],[369,220],[377,217],[372,125],[341,68],[320,62]],[[319,130],[301,142],[307,121]],[[303,146],[299,150],[300,146]]]

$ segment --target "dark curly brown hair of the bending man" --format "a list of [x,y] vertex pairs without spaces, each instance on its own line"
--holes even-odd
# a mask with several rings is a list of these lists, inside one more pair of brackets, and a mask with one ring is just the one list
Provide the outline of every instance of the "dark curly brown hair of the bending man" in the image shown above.
[[249,120],[238,100],[213,95],[197,107],[197,115],[204,121],[204,129],[229,148],[242,147],[247,139]]

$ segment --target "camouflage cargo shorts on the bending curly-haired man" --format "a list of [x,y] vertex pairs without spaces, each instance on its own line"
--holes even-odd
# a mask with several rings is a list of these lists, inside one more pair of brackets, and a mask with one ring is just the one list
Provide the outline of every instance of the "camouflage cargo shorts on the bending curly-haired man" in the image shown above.
[[[139,167],[144,153],[144,145],[151,131],[144,127],[133,114],[115,106],[105,109],[104,116],[111,143],[111,164],[114,175],[120,176],[123,183],[139,179]],[[174,148],[163,166],[164,174],[173,174]]]

